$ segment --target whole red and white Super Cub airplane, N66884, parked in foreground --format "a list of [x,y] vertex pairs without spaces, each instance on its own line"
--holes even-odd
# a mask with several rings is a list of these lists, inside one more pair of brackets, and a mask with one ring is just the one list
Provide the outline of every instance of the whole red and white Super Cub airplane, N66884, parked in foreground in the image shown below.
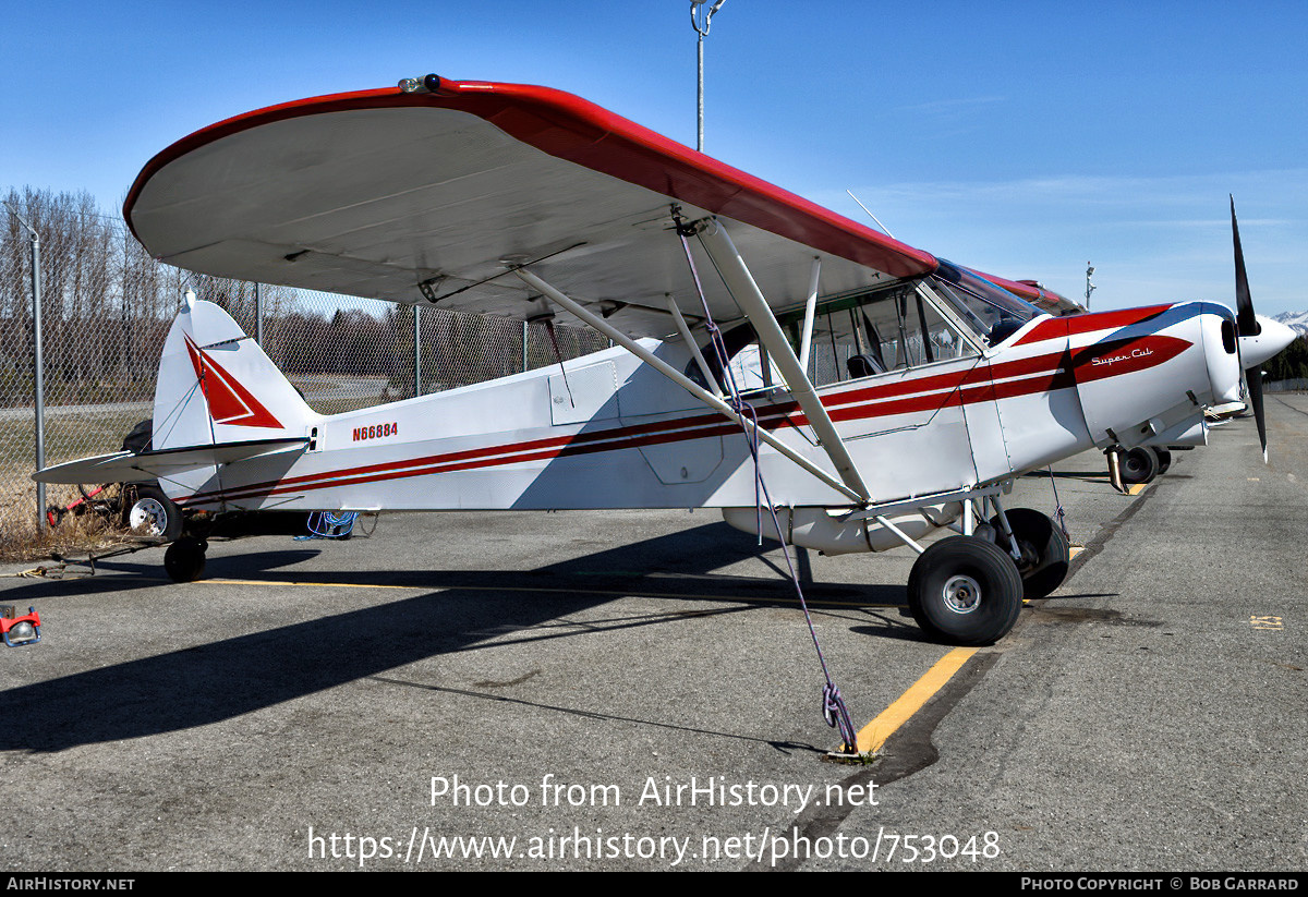
[[[562,315],[615,345],[318,415],[188,299],[152,446],[38,479],[145,475],[209,511],[717,507],[827,554],[908,545],[913,616],[957,643],[1001,638],[1066,575],[1059,528],[1003,507],[1015,477],[1093,446],[1202,442],[1203,409],[1240,396],[1245,331],[1222,305],[1052,316],[1020,298],[1037,288],[538,86],[426,76],[239,115],[154,157],[124,214],[182,268]],[[961,535],[917,541],[943,526]],[[191,579],[203,560],[187,533],[166,566]]]

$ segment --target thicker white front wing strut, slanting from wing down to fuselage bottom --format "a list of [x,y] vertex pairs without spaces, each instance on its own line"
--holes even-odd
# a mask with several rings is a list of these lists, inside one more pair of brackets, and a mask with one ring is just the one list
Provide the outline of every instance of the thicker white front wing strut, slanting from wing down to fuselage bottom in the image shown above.
[[854,459],[849,456],[845,441],[836,432],[836,425],[827,413],[827,408],[823,407],[818,391],[808,379],[808,374],[799,365],[794,349],[790,348],[790,341],[786,340],[786,335],[781,331],[781,324],[777,323],[777,318],[772,314],[768,301],[759,290],[759,285],[749,273],[749,268],[746,267],[744,259],[740,258],[740,252],[736,251],[735,243],[727,235],[726,229],[715,218],[709,218],[696,228],[696,235],[700,238],[700,245],[708,251],[709,258],[713,259],[713,264],[717,265],[718,273],[722,275],[722,281],[726,284],[727,292],[731,293],[731,297],[740,306],[746,318],[753,324],[753,330],[759,335],[759,341],[763,343],[763,347],[781,370],[781,377],[786,381],[786,388],[790,390],[795,401],[803,408],[804,416],[808,418],[808,425],[818,434],[819,445],[827,452],[831,463],[836,465],[836,471],[846,486],[845,493],[854,493],[858,501],[865,505],[871,503],[871,493],[863,482]]

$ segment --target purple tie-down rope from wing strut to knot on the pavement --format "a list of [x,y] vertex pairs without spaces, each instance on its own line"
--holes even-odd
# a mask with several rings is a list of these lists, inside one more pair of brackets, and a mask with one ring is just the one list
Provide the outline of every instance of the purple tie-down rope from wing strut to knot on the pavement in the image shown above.
[[[687,242],[685,228],[681,225],[679,217],[676,218],[676,224],[678,235],[681,238],[681,248],[685,250],[685,260],[689,263],[691,276],[695,279],[695,289],[698,292],[700,303],[704,307],[704,326],[709,332],[709,341],[713,344],[713,350],[717,354],[719,370],[727,382],[727,404],[740,418],[740,428],[744,430],[746,445],[749,446],[749,456],[753,459],[753,510],[759,544],[763,544],[763,507],[766,505],[768,515],[772,518],[772,526],[777,532],[777,539],[781,541],[781,554],[786,558],[786,569],[790,571],[790,582],[795,587],[795,595],[799,598],[799,607],[804,612],[804,622],[808,624],[808,635],[814,641],[814,650],[818,651],[818,663],[821,666],[821,675],[827,680],[827,685],[823,688],[821,696],[823,718],[827,720],[828,726],[840,731],[841,741],[844,741],[841,745],[844,751],[857,753],[858,735],[854,732],[854,723],[849,718],[849,710],[845,707],[845,700],[841,697],[840,689],[836,688],[836,684],[831,680],[831,671],[827,668],[827,658],[823,655],[821,645],[818,642],[818,629],[814,626],[812,615],[808,612],[808,601],[804,600],[804,590],[799,584],[799,574],[795,571],[795,565],[790,558],[790,545],[786,544],[786,537],[781,535],[781,522],[777,519],[777,509],[772,505],[772,496],[768,493],[768,484],[764,481],[763,468],[759,465],[759,413],[753,405],[740,399],[740,392],[736,388],[735,373],[731,370],[726,344],[722,341],[722,331],[718,328],[717,322],[713,320],[713,313],[709,311],[709,302],[704,298],[704,288],[700,284],[700,273],[695,268],[695,258],[691,255],[691,245]],[[749,421],[748,426],[746,425],[746,420]]]

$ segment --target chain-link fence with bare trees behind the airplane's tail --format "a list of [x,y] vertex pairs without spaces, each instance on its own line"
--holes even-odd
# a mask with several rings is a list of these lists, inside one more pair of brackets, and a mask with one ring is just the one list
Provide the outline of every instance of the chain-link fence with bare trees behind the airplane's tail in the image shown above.
[[[191,275],[145,255],[89,196],[10,190],[5,203],[12,213],[0,211],[7,218],[0,229],[0,536],[31,532],[41,518],[31,481],[33,230],[39,237],[46,465],[118,451],[132,426],[150,417],[164,339],[187,288],[256,335],[309,405],[328,415],[608,345],[590,331],[556,327],[556,356],[543,324]],[[77,494],[50,486],[46,503],[63,506]]]

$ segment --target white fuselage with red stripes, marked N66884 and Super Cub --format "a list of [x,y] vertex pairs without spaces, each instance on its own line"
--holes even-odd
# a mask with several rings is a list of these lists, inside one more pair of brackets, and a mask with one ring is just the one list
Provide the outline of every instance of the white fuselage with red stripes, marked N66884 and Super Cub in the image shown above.
[[[1186,303],[1037,318],[984,354],[819,395],[875,503],[956,493],[1095,445],[1192,429],[1205,404],[1239,390],[1235,354],[1220,345],[1230,316],[1222,306]],[[644,345],[675,367],[693,364],[680,341]],[[744,398],[765,429],[829,468],[783,388]],[[753,507],[756,499],[740,426],[620,348],[315,416],[305,428],[303,450],[200,468],[165,489],[179,505],[208,510]],[[766,446],[760,465],[774,503],[850,505]]]

